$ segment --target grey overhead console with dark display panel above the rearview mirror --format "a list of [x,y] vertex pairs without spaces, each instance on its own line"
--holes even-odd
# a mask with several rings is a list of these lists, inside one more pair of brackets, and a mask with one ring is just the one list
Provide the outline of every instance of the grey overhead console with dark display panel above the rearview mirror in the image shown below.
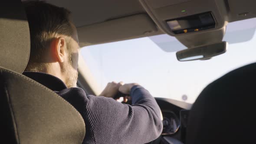
[[140,0],[140,2],[159,28],[171,36],[205,33],[226,26],[225,17],[221,16],[215,0]]

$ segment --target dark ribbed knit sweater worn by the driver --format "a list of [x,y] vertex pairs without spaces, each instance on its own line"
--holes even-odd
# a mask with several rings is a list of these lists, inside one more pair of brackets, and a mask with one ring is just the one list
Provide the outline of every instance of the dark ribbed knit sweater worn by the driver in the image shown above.
[[132,105],[113,98],[86,95],[82,88],[67,88],[57,77],[42,72],[24,72],[56,92],[82,115],[85,121],[83,144],[144,144],[161,134],[160,108],[143,87],[131,88]]

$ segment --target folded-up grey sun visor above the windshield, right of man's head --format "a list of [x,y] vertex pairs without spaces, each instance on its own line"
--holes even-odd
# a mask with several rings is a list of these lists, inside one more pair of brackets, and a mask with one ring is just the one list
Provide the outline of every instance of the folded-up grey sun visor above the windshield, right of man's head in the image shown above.
[[80,45],[86,46],[135,37],[151,36],[158,32],[158,29],[147,14],[138,14],[78,27],[77,31]]

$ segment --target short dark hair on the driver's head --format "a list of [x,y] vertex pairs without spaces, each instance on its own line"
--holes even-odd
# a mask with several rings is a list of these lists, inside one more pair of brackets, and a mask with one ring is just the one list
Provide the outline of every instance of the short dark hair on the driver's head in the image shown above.
[[30,26],[30,59],[26,71],[39,71],[35,66],[45,63],[42,59],[55,35],[72,36],[71,12],[39,0],[24,1],[23,5]]

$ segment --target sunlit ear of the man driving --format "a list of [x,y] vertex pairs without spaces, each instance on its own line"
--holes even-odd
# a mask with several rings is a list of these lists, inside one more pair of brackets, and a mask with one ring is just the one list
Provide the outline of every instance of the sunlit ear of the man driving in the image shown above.
[[58,62],[64,62],[66,56],[66,39],[64,37],[55,38],[52,42],[51,49]]

